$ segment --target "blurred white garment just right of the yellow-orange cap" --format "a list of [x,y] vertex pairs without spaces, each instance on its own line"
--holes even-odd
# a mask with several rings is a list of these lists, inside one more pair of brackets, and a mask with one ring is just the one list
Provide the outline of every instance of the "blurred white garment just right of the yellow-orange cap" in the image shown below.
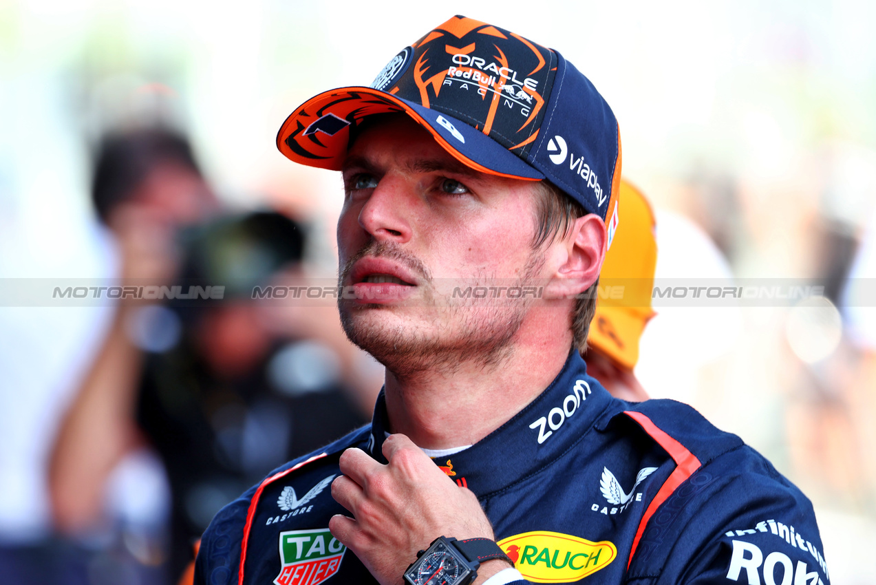
[[[732,285],[730,264],[702,228],[666,209],[656,209],[655,215],[654,290]],[[703,297],[690,293],[683,300],[652,299],[657,314],[642,335],[636,367],[652,398],[674,398],[700,408],[698,394],[723,390],[704,388],[703,374],[734,349],[742,334],[741,312],[726,302],[709,306]]]

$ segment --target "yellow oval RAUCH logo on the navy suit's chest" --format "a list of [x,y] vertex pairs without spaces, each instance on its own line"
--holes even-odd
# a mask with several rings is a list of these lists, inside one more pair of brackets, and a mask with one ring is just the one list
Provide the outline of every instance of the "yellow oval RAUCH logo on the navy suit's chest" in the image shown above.
[[592,542],[560,532],[523,532],[499,540],[498,546],[526,579],[539,583],[579,581],[618,556],[608,540]]

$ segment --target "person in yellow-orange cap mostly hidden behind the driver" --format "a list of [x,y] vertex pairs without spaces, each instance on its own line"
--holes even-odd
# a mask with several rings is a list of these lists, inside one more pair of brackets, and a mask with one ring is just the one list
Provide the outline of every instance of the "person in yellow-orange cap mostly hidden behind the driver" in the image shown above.
[[618,208],[624,210],[624,228],[618,229],[599,272],[601,290],[583,358],[587,373],[611,396],[641,402],[648,395],[632,369],[639,361],[639,338],[654,315],[654,215],[645,195],[626,180],[620,181]]

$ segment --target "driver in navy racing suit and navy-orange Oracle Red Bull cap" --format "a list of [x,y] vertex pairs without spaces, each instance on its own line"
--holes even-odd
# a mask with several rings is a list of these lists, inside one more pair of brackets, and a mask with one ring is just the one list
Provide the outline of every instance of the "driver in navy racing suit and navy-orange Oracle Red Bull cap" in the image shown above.
[[829,583],[766,460],[586,373],[620,143],[560,53],[451,18],[278,144],[343,171],[338,304],[385,387],[371,426],[216,515],[195,582]]

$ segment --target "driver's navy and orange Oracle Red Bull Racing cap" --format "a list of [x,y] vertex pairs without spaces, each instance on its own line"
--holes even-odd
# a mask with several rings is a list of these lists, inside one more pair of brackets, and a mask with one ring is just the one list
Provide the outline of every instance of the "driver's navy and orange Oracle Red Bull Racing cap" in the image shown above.
[[620,133],[608,104],[560,53],[456,16],[402,49],[371,87],[331,89],[286,118],[277,147],[307,166],[340,170],[364,118],[405,112],[466,166],[548,179],[588,213],[611,218]]

